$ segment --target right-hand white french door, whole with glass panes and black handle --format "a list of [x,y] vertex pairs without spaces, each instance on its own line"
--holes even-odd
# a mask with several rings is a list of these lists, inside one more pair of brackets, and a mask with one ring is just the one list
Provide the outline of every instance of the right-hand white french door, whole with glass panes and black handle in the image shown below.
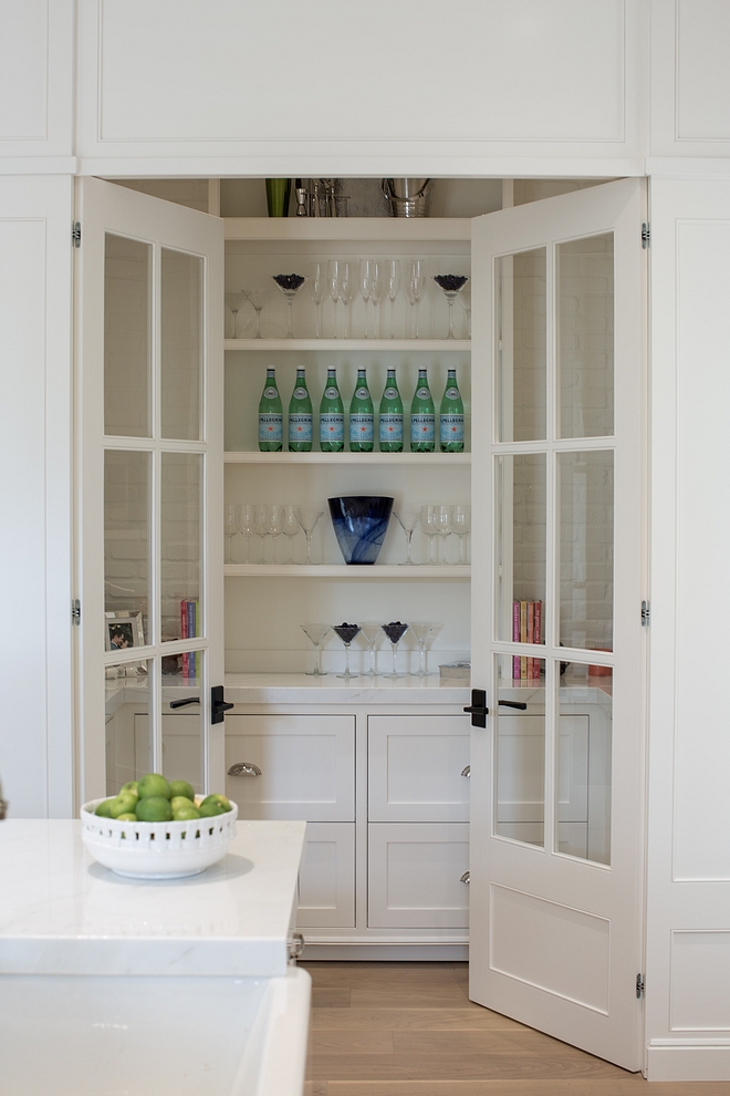
[[472,230],[472,685],[489,714],[471,743],[470,996],[627,1069],[642,1064],[644,194],[625,179]]

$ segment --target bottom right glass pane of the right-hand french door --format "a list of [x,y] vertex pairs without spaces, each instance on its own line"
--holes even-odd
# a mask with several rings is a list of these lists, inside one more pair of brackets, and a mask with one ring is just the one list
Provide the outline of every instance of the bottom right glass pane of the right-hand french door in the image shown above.
[[580,662],[559,685],[555,850],[597,864],[611,864],[612,686],[611,668]]

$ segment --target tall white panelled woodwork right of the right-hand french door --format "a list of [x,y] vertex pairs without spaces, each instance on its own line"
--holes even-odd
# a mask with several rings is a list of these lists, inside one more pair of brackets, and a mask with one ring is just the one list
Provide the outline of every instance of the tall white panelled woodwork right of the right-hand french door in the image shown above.
[[730,658],[730,183],[651,184],[650,1079],[730,1081],[727,721],[687,669]]

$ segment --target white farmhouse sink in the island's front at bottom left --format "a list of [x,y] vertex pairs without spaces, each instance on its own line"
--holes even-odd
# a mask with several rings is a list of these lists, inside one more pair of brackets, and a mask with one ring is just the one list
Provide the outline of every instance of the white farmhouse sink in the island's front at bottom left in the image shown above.
[[0,975],[0,1089],[301,1096],[311,979]]

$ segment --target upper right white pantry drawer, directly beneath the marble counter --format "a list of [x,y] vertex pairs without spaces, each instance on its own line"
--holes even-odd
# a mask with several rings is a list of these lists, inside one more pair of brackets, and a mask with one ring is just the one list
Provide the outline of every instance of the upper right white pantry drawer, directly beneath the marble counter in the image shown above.
[[367,721],[371,821],[468,821],[466,715],[373,715]]

